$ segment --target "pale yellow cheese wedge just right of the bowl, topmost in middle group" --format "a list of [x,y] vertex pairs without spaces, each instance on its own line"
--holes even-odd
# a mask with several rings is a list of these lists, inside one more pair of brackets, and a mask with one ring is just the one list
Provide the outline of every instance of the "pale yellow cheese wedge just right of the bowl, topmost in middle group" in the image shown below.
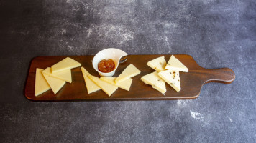
[[140,74],[140,70],[137,69],[133,64],[130,64],[129,66],[127,66],[127,68],[124,69],[124,71],[122,71],[122,74],[120,74],[119,77],[116,78],[115,82],[122,82],[126,79],[137,76],[138,74]]

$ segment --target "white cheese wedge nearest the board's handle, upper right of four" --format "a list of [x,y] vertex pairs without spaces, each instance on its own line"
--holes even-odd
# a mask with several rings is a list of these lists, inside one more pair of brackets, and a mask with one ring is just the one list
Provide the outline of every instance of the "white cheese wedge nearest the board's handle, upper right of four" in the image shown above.
[[165,69],[170,69],[173,71],[183,71],[188,72],[188,68],[184,66],[175,56],[170,56],[170,60],[168,61],[168,64],[166,64]]

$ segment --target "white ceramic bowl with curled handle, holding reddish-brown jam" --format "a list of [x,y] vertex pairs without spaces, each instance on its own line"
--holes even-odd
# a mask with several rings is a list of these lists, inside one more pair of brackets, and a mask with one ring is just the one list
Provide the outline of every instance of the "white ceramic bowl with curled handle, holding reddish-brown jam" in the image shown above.
[[[128,54],[121,49],[115,49],[115,48],[108,48],[99,51],[94,57],[93,57],[93,68],[99,73],[101,77],[112,77],[118,68],[119,61],[123,56],[127,56]],[[115,68],[111,72],[101,72],[98,69],[98,64],[103,59],[112,59],[115,64]]]

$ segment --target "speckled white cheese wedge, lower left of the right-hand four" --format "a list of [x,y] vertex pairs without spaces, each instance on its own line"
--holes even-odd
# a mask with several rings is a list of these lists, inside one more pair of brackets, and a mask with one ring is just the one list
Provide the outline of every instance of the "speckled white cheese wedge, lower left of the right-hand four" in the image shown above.
[[165,94],[165,81],[157,75],[157,71],[147,74],[141,78],[145,84],[150,84],[154,89],[157,89],[162,94]]

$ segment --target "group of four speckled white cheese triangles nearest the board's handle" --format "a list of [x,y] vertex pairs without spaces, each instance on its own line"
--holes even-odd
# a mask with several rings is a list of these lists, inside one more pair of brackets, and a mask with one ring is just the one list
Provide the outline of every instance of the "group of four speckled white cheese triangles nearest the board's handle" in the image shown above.
[[155,69],[155,71],[141,78],[145,84],[150,84],[162,94],[166,92],[165,82],[177,92],[180,91],[179,71],[188,72],[188,68],[175,58],[175,56],[170,56],[168,64],[166,64],[165,56],[160,56],[157,59],[148,61],[147,65]]

